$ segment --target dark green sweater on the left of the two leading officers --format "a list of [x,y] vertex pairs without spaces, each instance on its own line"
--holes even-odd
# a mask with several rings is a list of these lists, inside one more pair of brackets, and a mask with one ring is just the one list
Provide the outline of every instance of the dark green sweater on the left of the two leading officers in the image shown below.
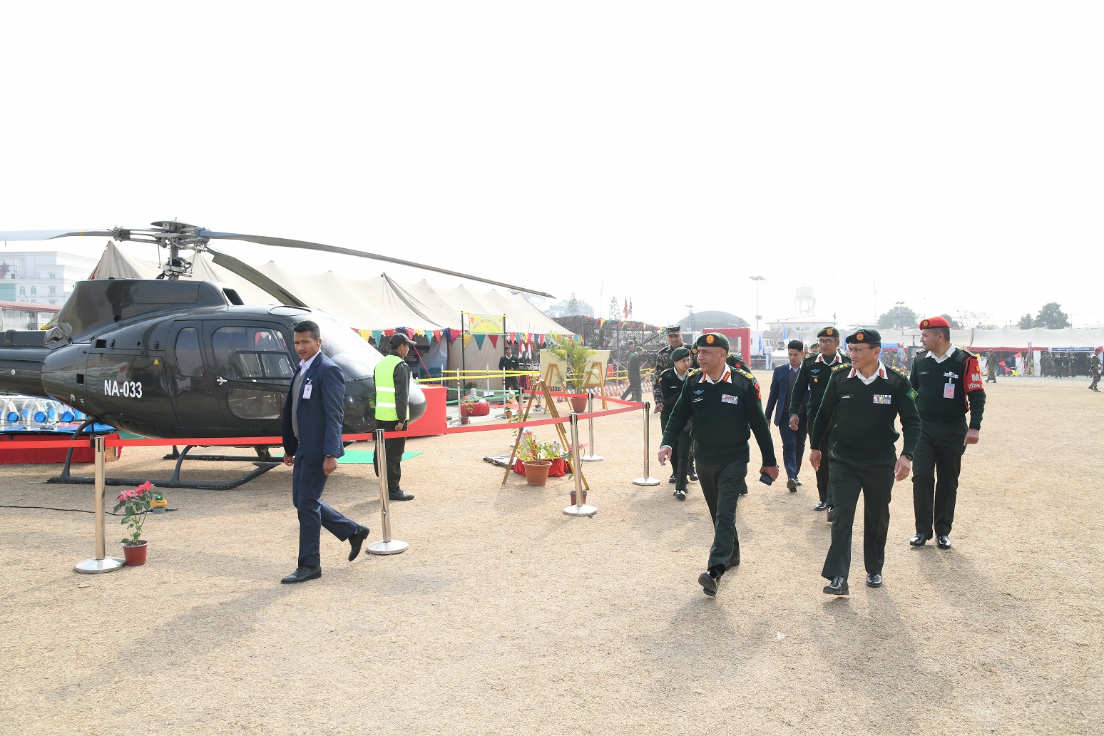
[[705,465],[750,459],[747,440],[755,433],[763,465],[778,465],[774,457],[771,429],[763,416],[758,382],[743,369],[725,369],[731,382],[709,383],[700,371],[692,372],[682,383],[675,408],[664,428],[662,445],[675,446],[678,434],[693,418],[690,439],[693,456]]

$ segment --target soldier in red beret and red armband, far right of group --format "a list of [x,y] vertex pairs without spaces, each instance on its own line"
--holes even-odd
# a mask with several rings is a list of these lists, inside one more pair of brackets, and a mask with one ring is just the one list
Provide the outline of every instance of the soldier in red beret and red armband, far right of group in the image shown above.
[[921,321],[920,344],[924,350],[913,356],[909,373],[909,384],[916,390],[921,422],[912,466],[916,534],[909,544],[924,546],[934,529],[936,546],[949,550],[963,452],[967,445],[977,444],[985,388],[977,355],[951,344],[951,324],[945,318]]

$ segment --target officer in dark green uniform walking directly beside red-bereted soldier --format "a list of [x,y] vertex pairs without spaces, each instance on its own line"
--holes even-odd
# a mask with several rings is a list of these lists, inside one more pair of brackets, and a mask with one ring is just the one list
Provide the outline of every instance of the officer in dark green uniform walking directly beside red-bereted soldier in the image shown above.
[[[813,425],[813,447],[820,447],[825,435],[835,427],[828,455],[831,457],[831,489],[836,520],[831,525],[831,546],[820,574],[830,583],[824,591],[848,595],[847,577],[851,569],[851,534],[859,492],[863,495],[862,552],[867,585],[882,585],[885,537],[890,527],[890,492],[893,481],[904,480],[912,468],[912,454],[920,438],[916,392],[898,369],[879,360],[882,335],[878,330],[860,328],[847,335],[850,365],[832,369],[824,401]],[[896,457],[900,436],[894,428],[901,417],[904,449]],[[809,462],[819,468],[821,452],[809,452]]]

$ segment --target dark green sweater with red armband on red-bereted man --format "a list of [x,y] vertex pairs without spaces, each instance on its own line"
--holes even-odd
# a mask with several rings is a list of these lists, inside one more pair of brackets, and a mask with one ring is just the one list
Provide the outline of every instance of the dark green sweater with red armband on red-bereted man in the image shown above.
[[924,424],[959,424],[969,412],[970,429],[981,428],[985,384],[977,355],[954,348],[942,362],[922,350],[912,359],[909,383],[916,390],[916,410]]

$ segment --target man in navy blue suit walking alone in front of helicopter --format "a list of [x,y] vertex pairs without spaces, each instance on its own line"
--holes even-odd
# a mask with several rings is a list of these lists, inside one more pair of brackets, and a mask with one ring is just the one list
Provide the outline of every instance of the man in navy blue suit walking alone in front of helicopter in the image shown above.
[[346,519],[322,501],[326,479],[338,469],[344,455],[341,424],[344,419],[344,374],[321,353],[318,323],[304,320],[295,326],[295,352],[299,370],[284,403],[284,465],[293,466],[291,504],[299,512],[299,566],[280,583],[302,583],[322,576],[319,537],[325,526],[352,546],[349,562],[357,558],[368,538],[368,527]]

